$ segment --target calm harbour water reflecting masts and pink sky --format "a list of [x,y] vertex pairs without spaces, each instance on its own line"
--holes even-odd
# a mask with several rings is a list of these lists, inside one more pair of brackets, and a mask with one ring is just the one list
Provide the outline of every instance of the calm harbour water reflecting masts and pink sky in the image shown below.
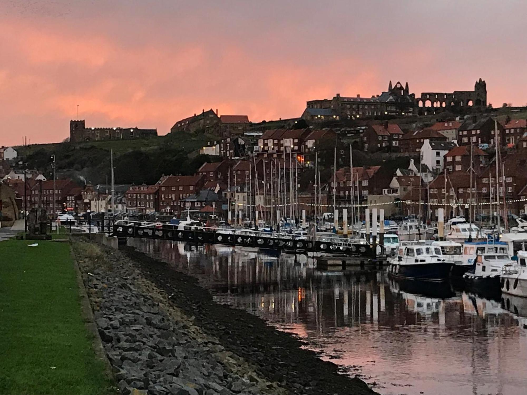
[[218,302],[293,333],[383,395],[527,393],[527,299],[325,272],[304,255],[131,240]]

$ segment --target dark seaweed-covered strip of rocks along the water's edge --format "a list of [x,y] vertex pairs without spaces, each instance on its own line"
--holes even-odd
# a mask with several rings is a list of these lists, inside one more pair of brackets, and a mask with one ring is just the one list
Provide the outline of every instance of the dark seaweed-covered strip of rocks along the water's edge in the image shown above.
[[216,303],[196,278],[130,247],[122,252],[159,288],[170,302],[194,318],[204,332],[216,337],[228,351],[258,367],[262,376],[298,394],[374,394],[367,384],[339,374],[339,367],[322,361],[303,342],[244,310]]

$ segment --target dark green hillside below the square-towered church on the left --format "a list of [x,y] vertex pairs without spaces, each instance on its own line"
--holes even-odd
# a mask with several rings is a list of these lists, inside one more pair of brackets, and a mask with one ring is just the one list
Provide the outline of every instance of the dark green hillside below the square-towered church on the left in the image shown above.
[[193,174],[204,161],[217,160],[197,154],[211,140],[214,137],[210,135],[178,133],[141,140],[35,144],[16,149],[28,168],[51,176],[50,157],[54,154],[58,174],[93,184],[105,183],[106,177],[110,180],[113,149],[116,183],[152,184],[163,174]]

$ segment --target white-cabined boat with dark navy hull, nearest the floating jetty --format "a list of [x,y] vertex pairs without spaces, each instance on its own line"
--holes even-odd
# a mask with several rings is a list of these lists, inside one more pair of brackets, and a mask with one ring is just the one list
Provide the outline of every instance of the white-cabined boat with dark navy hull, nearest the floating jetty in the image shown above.
[[454,264],[444,259],[441,248],[424,244],[399,246],[397,255],[389,262],[389,276],[436,282],[448,279]]

